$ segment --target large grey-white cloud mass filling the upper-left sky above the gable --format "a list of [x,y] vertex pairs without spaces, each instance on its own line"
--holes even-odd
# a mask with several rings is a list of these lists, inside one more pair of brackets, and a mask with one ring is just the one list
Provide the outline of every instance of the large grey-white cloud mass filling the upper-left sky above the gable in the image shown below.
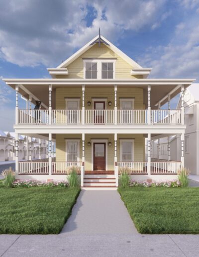
[[[19,66],[55,67],[98,33],[116,41],[125,30],[155,29],[166,0],[1,0],[0,58]],[[87,27],[88,6],[97,13]],[[71,32],[71,33],[69,33]]]

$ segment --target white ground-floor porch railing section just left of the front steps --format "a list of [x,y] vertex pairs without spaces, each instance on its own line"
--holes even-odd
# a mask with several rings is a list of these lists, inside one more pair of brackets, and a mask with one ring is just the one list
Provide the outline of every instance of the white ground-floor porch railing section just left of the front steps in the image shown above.
[[[52,174],[68,174],[69,168],[72,166],[81,167],[82,162],[65,162],[65,161],[56,161],[52,162]],[[80,172],[80,170],[79,170]]]

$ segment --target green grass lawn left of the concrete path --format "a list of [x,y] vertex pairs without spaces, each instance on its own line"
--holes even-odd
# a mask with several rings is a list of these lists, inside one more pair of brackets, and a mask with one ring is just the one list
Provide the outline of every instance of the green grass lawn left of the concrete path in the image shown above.
[[0,234],[60,233],[79,192],[79,188],[7,189],[0,185]]

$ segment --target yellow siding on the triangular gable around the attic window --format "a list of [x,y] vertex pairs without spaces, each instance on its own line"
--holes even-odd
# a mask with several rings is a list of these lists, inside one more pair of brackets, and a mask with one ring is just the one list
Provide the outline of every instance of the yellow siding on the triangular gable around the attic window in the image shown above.
[[132,76],[130,75],[131,69],[135,68],[124,61],[120,56],[110,50],[107,46],[101,44],[99,47],[98,44],[94,45],[87,52],[82,54],[79,58],[69,64],[66,68],[69,71],[69,75],[62,76],[57,75],[56,78],[69,78],[69,79],[80,79],[84,78],[84,64],[83,58],[116,58],[115,64],[115,78],[116,79],[135,79],[143,78],[143,76]]

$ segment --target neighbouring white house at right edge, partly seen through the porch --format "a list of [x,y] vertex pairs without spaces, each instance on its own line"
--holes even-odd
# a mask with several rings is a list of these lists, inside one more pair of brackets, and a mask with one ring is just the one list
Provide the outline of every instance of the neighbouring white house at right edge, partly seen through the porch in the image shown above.
[[[194,83],[185,90],[185,167],[192,174],[199,175],[199,84]],[[181,97],[177,105],[181,109]],[[180,134],[166,137],[152,137],[151,153],[153,158],[162,160],[181,159]]]

